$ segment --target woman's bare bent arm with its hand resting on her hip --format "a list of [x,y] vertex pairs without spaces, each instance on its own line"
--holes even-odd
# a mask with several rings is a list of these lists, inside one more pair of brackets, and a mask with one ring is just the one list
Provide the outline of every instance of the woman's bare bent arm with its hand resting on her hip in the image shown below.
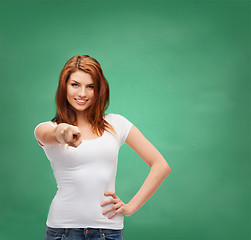
[[135,213],[156,192],[171,172],[171,168],[161,153],[145,138],[136,126],[132,126],[126,143],[151,167],[151,170],[139,191],[128,204],[124,204],[115,193],[105,194],[112,195],[114,200],[108,200],[102,206],[109,202],[113,202],[115,205],[104,211],[103,214],[117,209],[109,218],[114,217],[119,212],[122,212],[126,216]]

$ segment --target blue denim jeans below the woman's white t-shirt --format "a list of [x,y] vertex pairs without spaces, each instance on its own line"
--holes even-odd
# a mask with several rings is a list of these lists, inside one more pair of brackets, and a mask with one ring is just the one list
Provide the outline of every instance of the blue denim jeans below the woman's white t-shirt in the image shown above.
[[51,228],[46,226],[45,240],[123,240],[123,229]]

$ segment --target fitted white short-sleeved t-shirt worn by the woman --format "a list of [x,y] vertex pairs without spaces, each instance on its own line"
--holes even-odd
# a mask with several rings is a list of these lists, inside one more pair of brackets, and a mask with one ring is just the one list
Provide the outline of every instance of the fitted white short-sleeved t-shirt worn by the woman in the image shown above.
[[[104,117],[115,129],[116,137],[105,131],[101,137],[83,140],[77,148],[67,144],[42,146],[58,188],[50,205],[48,227],[123,229],[122,213],[111,219],[108,216],[115,210],[102,214],[114,203],[103,207],[100,203],[112,198],[104,192],[116,193],[119,148],[125,143],[133,124],[119,114],[109,113]],[[45,123],[57,125],[51,121],[40,124]]]

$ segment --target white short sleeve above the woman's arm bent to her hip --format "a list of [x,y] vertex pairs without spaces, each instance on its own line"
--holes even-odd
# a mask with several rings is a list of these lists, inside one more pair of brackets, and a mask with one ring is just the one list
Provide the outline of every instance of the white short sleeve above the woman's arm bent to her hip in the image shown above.
[[133,126],[132,122],[120,114],[114,114],[119,146],[123,145]]

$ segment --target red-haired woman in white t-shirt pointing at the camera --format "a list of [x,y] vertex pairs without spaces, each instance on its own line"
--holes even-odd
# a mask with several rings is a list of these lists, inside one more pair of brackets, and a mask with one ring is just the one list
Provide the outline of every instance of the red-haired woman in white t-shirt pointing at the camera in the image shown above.
[[[56,93],[56,116],[34,135],[54,172],[45,240],[123,239],[124,216],[154,194],[171,169],[139,129],[120,114],[104,114],[109,86],[94,58],[74,56],[65,64]],[[151,167],[129,203],[115,193],[118,152],[127,143]]]

